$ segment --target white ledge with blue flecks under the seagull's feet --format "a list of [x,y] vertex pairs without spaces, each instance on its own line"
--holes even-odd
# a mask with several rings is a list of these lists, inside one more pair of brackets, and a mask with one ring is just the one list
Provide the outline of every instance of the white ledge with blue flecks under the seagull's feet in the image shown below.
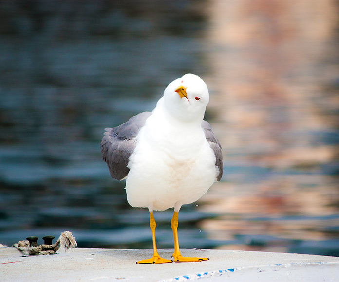
[[[160,249],[169,259],[173,250]],[[151,250],[77,248],[56,255],[23,257],[0,248],[2,282],[75,281],[336,281],[339,258],[269,252],[181,250],[184,256],[208,257],[198,263],[136,264]]]

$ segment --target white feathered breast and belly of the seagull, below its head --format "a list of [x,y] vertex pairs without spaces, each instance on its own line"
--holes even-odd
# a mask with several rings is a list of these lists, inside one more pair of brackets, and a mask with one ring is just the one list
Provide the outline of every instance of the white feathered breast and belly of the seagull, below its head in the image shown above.
[[201,126],[173,123],[157,109],[140,130],[128,166],[129,204],[151,210],[198,200],[217,174],[215,156]]

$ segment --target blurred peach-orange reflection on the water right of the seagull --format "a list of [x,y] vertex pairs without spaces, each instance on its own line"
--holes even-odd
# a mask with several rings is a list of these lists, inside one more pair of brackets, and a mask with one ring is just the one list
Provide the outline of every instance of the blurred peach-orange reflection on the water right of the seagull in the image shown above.
[[201,200],[221,215],[200,226],[231,241],[221,248],[338,255],[338,2],[216,1],[210,11],[228,182]]

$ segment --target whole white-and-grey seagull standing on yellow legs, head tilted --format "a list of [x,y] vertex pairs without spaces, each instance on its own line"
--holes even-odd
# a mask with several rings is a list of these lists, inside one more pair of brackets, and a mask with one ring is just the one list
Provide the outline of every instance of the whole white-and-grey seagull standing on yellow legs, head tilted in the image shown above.
[[[222,148],[203,120],[209,93],[197,75],[175,79],[152,112],[142,112],[114,128],[105,128],[101,152],[112,178],[126,179],[127,201],[148,208],[153,256],[137,264],[199,262],[208,258],[183,257],[179,250],[178,213],[197,201],[223,175]],[[153,211],[174,208],[171,228],[173,261],[159,256]]]

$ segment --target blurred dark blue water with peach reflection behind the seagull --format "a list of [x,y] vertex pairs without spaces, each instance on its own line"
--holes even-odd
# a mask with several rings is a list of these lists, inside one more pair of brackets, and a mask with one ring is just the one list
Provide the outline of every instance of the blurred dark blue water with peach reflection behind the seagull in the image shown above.
[[[0,243],[71,230],[79,247],[151,248],[100,140],[191,72],[224,177],[182,208],[181,247],[339,256],[338,15],[335,0],[0,1]],[[171,216],[155,213],[159,248]]]

